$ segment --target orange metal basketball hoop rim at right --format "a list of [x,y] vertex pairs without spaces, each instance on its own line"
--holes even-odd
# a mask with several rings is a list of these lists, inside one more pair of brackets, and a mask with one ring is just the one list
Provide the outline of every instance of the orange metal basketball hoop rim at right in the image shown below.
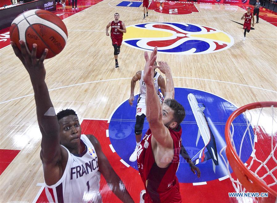
[[226,126],[225,126],[225,139],[226,139],[226,156],[230,163],[231,168],[233,169],[234,173],[236,174],[239,182],[246,188],[249,192],[258,192],[264,193],[268,192],[271,195],[277,197],[277,192],[274,191],[272,188],[268,187],[264,184],[261,180],[254,176],[252,172],[242,163],[242,160],[239,158],[238,154],[234,150],[234,147],[231,143],[230,139],[230,126],[233,120],[246,110],[251,110],[255,108],[261,107],[277,107],[277,102],[255,102],[251,104],[247,104],[245,106],[240,107],[239,109],[235,110],[230,117],[227,119]]

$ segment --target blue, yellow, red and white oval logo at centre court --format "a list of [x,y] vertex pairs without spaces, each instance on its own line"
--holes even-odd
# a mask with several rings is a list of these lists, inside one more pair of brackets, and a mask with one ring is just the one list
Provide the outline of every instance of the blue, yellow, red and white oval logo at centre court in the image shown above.
[[155,46],[165,54],[207,54],[223,51],[234,44],[226,32],[188,23],[142,23],[127,27],[127,46],[150,51]]

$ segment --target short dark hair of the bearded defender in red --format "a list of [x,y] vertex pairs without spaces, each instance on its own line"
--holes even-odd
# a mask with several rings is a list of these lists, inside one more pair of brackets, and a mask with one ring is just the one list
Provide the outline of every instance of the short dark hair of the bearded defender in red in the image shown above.
[[163,103],[174,111],[173,119],[179,125],[185,118],[185,108],[175,99],[166,99]]

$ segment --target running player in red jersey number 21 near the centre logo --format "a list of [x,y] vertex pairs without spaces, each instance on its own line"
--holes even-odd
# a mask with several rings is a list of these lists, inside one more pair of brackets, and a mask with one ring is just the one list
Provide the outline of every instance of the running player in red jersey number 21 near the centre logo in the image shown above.
[[120,53],[120,46],[122,43],[123,33],[126,33],[126,27],[123,21],[119,20],[119,14],[114,14],[114,21],[108,23],[106,27],[106,35],[109,36],[109,27],[112,26],[111,29],[111,39],[112,39],[112,46],[114,48],[114,59],[116,60],[116,68],[119,67],[117,57]]

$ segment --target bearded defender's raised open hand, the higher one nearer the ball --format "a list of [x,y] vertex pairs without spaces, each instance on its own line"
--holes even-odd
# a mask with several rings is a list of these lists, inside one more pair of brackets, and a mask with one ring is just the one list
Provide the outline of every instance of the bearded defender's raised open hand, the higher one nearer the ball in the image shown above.
[[143,81],[145,82],[145,84],[149,84],[153,82],[154,71],[153,71],[152,65],[157,59],[157,50],[158,48],[155,47],[153,52],[150,55],[150,58],[148,56],[148,53],[144,52],[144,58],[145,58],[146,64],[144,66]]

